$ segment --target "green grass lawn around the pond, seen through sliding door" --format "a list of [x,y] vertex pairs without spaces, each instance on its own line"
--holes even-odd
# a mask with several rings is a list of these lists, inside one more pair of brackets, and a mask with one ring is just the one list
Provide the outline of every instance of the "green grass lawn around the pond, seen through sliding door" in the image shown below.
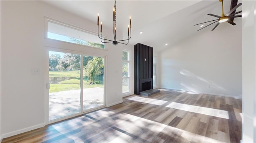
[[[76,90],[80,89],[80,71],[49,71],[49,77],[76,77],[70,80],[64,80],[59,82],[59,84],[50,84],[49,92],[59,92],[66,90]],[[93,87],[102,87],[103,84],[92,84],[89,85],[87,77],[84,78],[84,86],[83,88],[93,88]]]

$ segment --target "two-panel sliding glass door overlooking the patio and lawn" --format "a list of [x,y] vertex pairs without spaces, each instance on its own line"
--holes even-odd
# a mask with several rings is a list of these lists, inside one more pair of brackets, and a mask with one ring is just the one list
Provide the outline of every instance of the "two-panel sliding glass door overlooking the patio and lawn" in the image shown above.
[[49,121],[103,107],[104,57],[49,51],[48,89]]

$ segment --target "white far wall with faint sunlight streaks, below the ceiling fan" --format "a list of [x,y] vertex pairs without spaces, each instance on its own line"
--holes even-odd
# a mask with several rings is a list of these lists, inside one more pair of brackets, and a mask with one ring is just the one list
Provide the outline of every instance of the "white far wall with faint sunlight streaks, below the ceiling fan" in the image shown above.
[[214,31],[202,29],[161,51],[160,86],[241,98],[241,18],[234,22],[237,25],[222,23]]

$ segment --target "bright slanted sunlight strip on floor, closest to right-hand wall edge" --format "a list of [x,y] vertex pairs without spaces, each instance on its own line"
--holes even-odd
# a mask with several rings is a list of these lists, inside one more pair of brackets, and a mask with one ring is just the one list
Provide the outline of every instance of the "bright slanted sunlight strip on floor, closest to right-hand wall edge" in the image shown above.
[[166,107],[229,119],[228,111],[172,102]]

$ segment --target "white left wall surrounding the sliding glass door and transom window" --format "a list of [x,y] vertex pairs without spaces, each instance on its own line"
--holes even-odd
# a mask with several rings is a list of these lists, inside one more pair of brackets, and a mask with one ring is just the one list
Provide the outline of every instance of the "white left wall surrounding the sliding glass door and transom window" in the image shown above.
[[[44,39],[44,16],[91,31],[90,22],[40,1],[1,1],[1,134],[9,137],[44,126],[47,47],[106,55],[106,104],[122,102],[122,46],[107,50]],[[106,28],[104,28],[106,29]],[[112,36],[112,31],[104,31]],[[119,33],[118,35],[122,35]],[[120,60],[117,60],[120,59]],[[31,74],[37,68],[40,74]],[[117,78],[120,77],[120,78]]]

